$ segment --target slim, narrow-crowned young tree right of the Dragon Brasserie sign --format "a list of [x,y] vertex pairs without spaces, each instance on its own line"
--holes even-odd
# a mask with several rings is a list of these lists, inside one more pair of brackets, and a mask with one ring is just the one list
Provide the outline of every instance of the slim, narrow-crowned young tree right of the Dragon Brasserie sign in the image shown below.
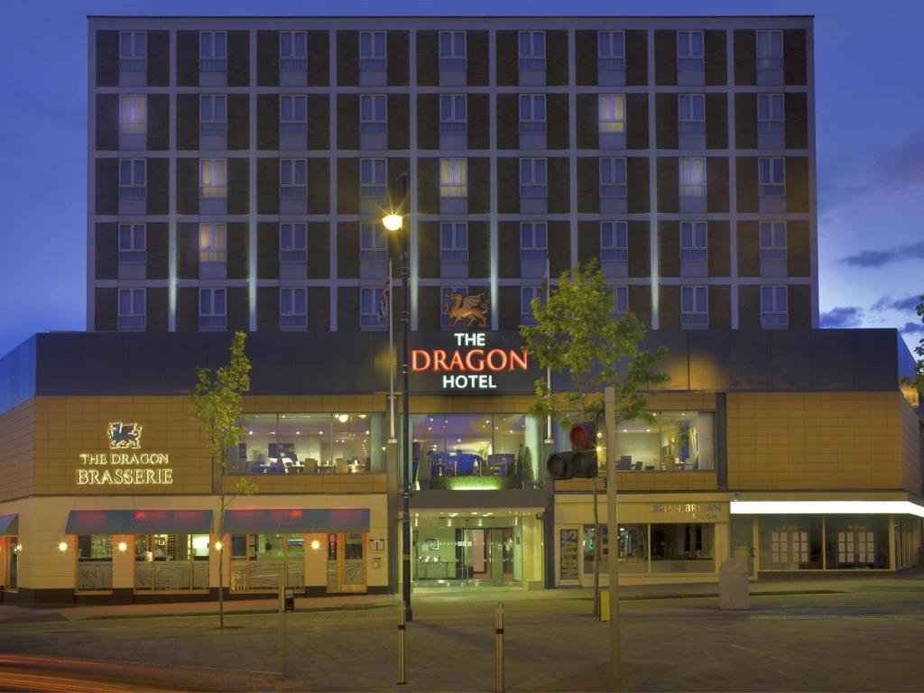
[[225,627],[225,508],[240,493],[253,493],[256,484],[246,477],[237,480],[237,493],[225,492],[225,475],[228,454],[232,445],[240,443],[245,426],[241,423],[241,395],[250,389],[250,361],[244,353],[247,334],[237,332],[231,341],[228,362],[212,372],[208,368],[196,369],[196,387],[189,395],[192,415],[202,424],[212,456],[213,479],[217,477],[218,511],[218,623]]

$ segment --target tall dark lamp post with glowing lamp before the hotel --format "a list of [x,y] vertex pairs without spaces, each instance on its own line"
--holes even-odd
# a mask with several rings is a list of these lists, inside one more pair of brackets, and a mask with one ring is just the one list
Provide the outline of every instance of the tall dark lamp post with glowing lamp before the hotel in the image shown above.
[[[401,238],[401,376],[404,388],[404,416],[401,423],[401,460],[404,473],[404,488],[402,490],[402,499],[404,506],[401,513],[401,598],[404,602],[405,620],[413,621],[414,613],[410,606],[410,406],[408,400],[410,397],[410,385],[408,382],[409,364],[407,334],[410,330],[410,305],[409,305],[409,248],[410,248],[410,230],[404,229],[404,218],[402,216],[402,207],[407,199],[407,173],[402,173],[396,181],[400,190],[401,201],[397,208],[394,207],[385,214],[382,219],[382,225],[387,231],[400,234]],[[389,302],[388,310],[393,310]],[[389,318],[390,319],[390,318]]]

